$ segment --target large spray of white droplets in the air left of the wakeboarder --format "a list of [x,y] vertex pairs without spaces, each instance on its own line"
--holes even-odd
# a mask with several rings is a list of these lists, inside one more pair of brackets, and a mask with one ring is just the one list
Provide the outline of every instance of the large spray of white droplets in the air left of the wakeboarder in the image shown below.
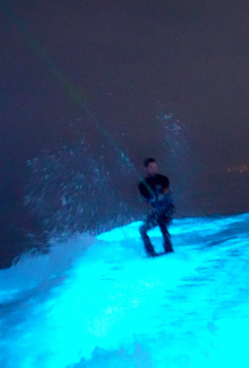
[[50,237],[99,232],[132,217],[118,184],[130,180],[133,164],[122,155],[108,158],[102,148],[93,153],[85,138],[77,139],[28,160],[25,206]]

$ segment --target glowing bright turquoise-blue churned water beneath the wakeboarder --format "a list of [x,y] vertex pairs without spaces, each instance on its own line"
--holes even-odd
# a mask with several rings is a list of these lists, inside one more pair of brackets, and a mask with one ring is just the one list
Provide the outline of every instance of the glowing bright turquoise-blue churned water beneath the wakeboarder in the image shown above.
[[138,226],[0,271],[1,367],[248,365],[249,214],[175,220],[175,254],[151,259]]

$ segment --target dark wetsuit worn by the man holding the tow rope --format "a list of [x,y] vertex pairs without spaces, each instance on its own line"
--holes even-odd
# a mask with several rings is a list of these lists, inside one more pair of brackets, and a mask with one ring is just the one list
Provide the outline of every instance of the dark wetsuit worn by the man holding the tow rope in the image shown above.
[[148,255],[151,256],[156,254],[150,238],[147,235],[147,231],[157,225],[162,231],[165,252],[173,252],[167,226],[171,222],[174,205],[171,194],[166,194],[164,192],[164,190],[168,188],[169,179],[160,174],[148,176],[144,181],[139,183],[141,195],[144,197],[145,201],[151,204],[153,209],[152,213],[147,216],[144,224],[140,227],[140,234],[144,242],[145,250]]

